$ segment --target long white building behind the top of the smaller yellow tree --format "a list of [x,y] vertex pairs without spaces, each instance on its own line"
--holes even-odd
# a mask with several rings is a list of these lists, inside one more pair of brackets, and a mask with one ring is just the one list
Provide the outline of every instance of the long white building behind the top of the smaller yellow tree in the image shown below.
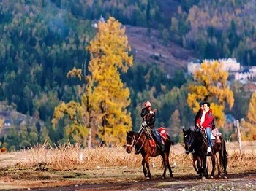
[[[194,72],[198,69],[200,69],[201,63],[212,63],[215,60],[207,60],[204,59],[203,61],[197,60],[189,62],[187,65],[187,71],[189,74],[194,74]],[[223,63],[223,70],[228,72],[238,72],[241,71],[241,65],[236,61],[235,58],[228,58],[228,59],[219,59],[217,60],[219,63]]]

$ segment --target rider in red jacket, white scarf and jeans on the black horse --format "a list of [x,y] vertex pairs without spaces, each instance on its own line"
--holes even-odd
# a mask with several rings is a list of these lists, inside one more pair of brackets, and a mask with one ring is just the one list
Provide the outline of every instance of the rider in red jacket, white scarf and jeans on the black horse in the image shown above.
[[212,114],[212,110],[210,109],[210,103],[205,102],[203,104],[203,114],[202,116],[197,120],[197,126],[200,128],[203,128],[206,130],[206,136],[208,140],[208,149],[207,152],[211,152],[212,150],[212,142],[211,142],[211,130],[214,120],[214,115]]

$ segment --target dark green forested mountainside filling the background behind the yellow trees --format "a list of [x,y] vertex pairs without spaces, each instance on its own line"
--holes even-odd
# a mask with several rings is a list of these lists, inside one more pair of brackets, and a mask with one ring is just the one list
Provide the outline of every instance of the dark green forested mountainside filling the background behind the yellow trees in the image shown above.
[[113,16],[127,26],[135,58],[122,75],[133,125],[146,98],[162,111],[159,124],[169,125],[179,105],[180,123],[189,125],[187,62],[232,57],[256,65],[255,7],[255,0],[0,1],[0,101],[44,121],[50,139],[61,139],[50,129],[53,110],[78,100],[81,83],[67,72],[75,66],[87,74],[94,23]]

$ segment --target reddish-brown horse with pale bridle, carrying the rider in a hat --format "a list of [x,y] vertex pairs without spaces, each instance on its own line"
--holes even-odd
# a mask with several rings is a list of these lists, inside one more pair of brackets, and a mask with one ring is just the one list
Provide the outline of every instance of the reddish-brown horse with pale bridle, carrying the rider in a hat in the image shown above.
[[[151,129],[149,129],[151,130]],[[164,173],[162,174],[162,178],[165,179],[165,174],[167,168],[169,169],[170,177],[173,177],[173,171],[170,167],[169,163],[169,154],[170,154],[170,146],[173,144],[173,141],[170,140],[170,136],[167,136],[167,139],[164,139],[165,142],[165,150],[161,151],[158,147],[151,147],[151,133],[148,132],[148,127],[145,126],[140,130],[140,133],[135,133],[134,131],[127,132],[127,152],[131,153],[132,149],[135,148],[135,154],[141,154],[143,157],[142,160],[142,168],[143,173],[146,179],[151,179],[151,173],[148,164],[149,157],[157,157],[161,155],[163,164],[165,167]],[[146,165],[146,167],[145,167]]]

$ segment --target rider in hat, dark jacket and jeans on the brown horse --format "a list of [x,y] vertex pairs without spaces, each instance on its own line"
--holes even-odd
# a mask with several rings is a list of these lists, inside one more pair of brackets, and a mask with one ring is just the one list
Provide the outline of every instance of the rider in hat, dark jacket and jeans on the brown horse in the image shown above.
[[[149,117],[146,117],[147,115],[150,115]],[[152,106],[149,101],[144,102],[144,107],[141,109],[140,116],[143,118],[143,125],[147,125],[151,128],[152,135],[154,139],[157,141],[160,149],[162,151],[165,150],[165,145],[162,143],[162,138],[157,132],[157,129],[154,128],[154,122],[156,120],[154,112],[152,112]]]

